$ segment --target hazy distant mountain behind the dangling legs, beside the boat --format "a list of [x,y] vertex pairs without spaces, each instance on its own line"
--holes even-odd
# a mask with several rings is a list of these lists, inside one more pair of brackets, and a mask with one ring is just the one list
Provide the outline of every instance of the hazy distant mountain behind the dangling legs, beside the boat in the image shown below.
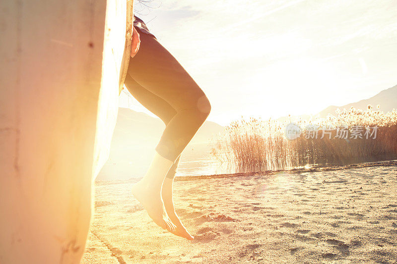
[[[143,176],[164,128],[165,125],[159,118],[120,107],[109,159],[99,172],[97,180]],[[205,121],[186,147],[182,161],[189,162],[189,158],[209,154],[210,139],[222,130],[223,126]]]

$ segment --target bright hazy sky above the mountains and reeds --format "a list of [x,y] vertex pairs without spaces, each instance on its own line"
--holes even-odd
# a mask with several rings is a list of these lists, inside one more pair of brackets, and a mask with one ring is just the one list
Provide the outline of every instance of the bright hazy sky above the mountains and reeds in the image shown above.
[[[222,125],[242,115],[316,113],[397,84],[396,0],[148,5],[135,0],[135,14],[205,92],[208,120]],[[132,100],[130,107],[144,109]]]

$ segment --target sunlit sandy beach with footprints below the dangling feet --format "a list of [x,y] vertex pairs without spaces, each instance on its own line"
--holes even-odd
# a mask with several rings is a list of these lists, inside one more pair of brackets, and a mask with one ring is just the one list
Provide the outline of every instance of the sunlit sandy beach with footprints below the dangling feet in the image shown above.
[[397,166],[187,178],[193,242],[157,227],[133,181],[98,182],[81,263],[397,263]]

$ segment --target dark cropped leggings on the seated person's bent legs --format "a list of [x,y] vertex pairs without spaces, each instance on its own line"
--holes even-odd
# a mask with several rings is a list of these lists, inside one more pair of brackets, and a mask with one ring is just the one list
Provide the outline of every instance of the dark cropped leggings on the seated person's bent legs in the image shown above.
[[192,77],[154,37],[139,32],[138,53],[130,59],[125,85],[132,96],[166,125],[156,147],[174,162],[173,178],[182,151],[207,118],[211,106]]

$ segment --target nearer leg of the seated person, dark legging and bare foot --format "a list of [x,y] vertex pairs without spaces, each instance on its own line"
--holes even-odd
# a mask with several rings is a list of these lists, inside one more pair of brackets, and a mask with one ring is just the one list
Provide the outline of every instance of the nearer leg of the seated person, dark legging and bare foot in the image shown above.
[[[161,203],[152,203],[151,197],[161,195],[161,188],[164,187],[168,190],[168,195],[164,194],[163,197],[167,197],[167,201],[171,201],[166,204],[175,212],[172,204],[172,184],[166,184],[158,190],[157,184],[150,184],[150,181],[169,183],[169,180],[164,181],[164,177],[170,172],[167,178],[171,179],[172,183],[175,172],[170,168],[176,167],[177,162],[175,161],[208,116],[210,105],[195,81],[156,39],[146,34],[141,34],[140,39],[140,50],[130,61],[129,75],[140,87],[164,100],[176,111],[166,124],[161,140],[156,147],[160,157],[155,157],[148,173],[133,188],[135,197],[138,196],[138,200],[144,206],[146,205],[145,208],[149,216],[157,215],[158,220],[161,218],[158,215],[164,215],[164,204],[161,197]],[[156,100],[156,102],[158,101]],[[167,161],[170,162],[167,163]],[[167,168],[167,165],[164,166],[164,164],[168,164],[169,167]],[[170,215],[172,214],[170,212]],[[174,222],[180,222],[178,216],[176,214],[175,216]],[[153,220],[156,217],[152,217]],[[175,230],[171,231],[175,232]]]

